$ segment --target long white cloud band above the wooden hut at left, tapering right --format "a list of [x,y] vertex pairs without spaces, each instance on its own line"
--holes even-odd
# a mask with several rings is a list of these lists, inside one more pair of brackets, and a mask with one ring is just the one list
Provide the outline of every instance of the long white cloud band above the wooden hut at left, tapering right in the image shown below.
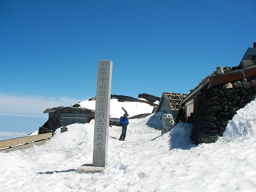
[[18,95],[0,93],[0,114],[19,116],[45,116],[46,108],[70,106],[83,100],[61,97],[45,97],[36,95]]

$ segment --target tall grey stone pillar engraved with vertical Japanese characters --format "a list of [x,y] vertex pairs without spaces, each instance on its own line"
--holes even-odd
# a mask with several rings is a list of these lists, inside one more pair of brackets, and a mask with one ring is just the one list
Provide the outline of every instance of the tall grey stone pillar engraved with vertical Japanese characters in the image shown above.
[[93,166],[105,167],[108,159],[112,68],[112,61],[99,60],[93,136]]

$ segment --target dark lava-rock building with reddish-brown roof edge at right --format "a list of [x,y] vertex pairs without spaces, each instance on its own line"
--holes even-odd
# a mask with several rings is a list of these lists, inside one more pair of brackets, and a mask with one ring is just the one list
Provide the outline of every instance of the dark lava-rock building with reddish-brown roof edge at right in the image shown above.
[[213,143],[223,135],[238,109],[255,99],[256,44],[248,48],[236,67],[217,67],[180,102],[185,120],[193,125],[194,143]]

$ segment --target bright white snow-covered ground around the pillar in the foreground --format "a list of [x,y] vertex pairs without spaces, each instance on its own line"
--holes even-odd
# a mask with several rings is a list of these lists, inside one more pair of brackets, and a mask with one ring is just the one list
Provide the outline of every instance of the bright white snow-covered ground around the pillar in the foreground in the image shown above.
[[76,173],[92,163],[93,121],[73,124],[44,145],[0,152],[0,191],[256,191],[256,101],[227,125],[216,143],[194,145],[191,125],[161,136],[159,114],[109,127],[102,173]]

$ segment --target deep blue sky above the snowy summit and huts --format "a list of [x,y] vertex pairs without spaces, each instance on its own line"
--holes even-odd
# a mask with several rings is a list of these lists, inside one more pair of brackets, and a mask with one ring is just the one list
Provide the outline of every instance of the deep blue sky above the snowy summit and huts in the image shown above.
[[256,41],[255,8],[254,0],[1,0],[0,114],[45,117],[45,108],[94,97],[99,60],[113,61],[113,94],[189,93],[217,66],[239,64]]

